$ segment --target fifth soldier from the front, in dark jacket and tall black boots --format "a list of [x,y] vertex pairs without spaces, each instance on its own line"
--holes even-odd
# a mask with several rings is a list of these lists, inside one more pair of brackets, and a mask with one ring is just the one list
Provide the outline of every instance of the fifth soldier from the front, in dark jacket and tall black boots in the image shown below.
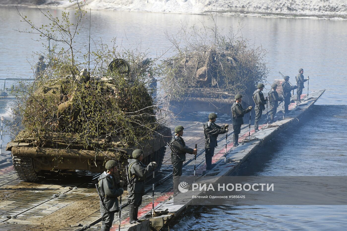
[[252,110],[252,106],[249,106],[247,109],[243,109],[242,105],[242,95],[235,95],[235,102],[231,106],[232,113],[232,127],[234,128],[234,135],[232,136],[234,140],[234,147],[238,146],[238,135],[241,132],[241,125],[243,125],[243,116]]

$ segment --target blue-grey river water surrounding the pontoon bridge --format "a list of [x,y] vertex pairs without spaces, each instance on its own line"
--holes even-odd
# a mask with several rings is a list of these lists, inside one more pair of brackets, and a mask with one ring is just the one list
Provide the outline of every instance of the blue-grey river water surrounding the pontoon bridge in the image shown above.
[[[37,9],[19,11],[37,24],[46,24]],[[61,13],[60,9],[50,11]],[[14,30],[27,28],[14,7],[1,7],[0,15],[0,78],[31,77],[30,64],[37,61],[33,52],[43,53],[43,47],[32,40],[35,36]],[[117,44],[126,48],[141,42],[142,50],[149,48],[155,57],[171,46],[165,32],[175,34],[181,21],[199,25],[202,20],[211,25],[203,15],[92,11],[91,37],[109,44],[117,37]],[[239,20],[218,16],[217,25],[224,30],[236,28]],[[344,176],[347,21],[246,17],[243,25],[242,35],[250,44],[268,49],[268,82],[281,71],[293,83],[298,69],[304,68],[304,76],[310,76],[310,91],[325,88],[326,92],[308,112],[310,116],[251,156],[238,174]],[[79,38],[87,41],[88,29]],[[180,216],[170,230],[346,230],[346,213],[347,206],[199,206]]]

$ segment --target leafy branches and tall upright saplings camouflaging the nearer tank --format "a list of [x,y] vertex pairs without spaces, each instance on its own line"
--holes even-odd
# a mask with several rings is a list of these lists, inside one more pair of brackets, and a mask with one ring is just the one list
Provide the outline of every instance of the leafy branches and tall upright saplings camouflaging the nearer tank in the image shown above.
[[[45,52],[50,62],[44,73],[18,97],[14,129],[21,132],[16,140],[39,147],[105,150],[109,144],[136,146],[153,137],[162,123],[155,119],[158,108],[146,77],[149,72],[156,76],[159,69],[152,60],[142,62],[147,53],[119,49],[115,40],[111,48],[100,42],[90,53],[83,50],[85,42],[75,44],[86,16],[82,3],[77,4],[74,23],[66,11],[60,19],[49,11],[43,14],[49,24],[42,26],[21,15],[41,33],[41,41],[50,39],[53,45]],[[110,71],[114,59],[127,60],[131,71]]]

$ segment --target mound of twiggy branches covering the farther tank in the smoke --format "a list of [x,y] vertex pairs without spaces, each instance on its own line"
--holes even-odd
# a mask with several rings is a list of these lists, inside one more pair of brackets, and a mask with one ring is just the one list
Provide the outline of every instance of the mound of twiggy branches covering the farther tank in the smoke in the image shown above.
[[247,40],[231,31],[221,35],[214,27],[192,27],[168,38],[174,44],[174,55],[163,62],[167,75],[162,87],[176,100],[248,95],[269,73],[264,61],[266,51],[249,46]]

